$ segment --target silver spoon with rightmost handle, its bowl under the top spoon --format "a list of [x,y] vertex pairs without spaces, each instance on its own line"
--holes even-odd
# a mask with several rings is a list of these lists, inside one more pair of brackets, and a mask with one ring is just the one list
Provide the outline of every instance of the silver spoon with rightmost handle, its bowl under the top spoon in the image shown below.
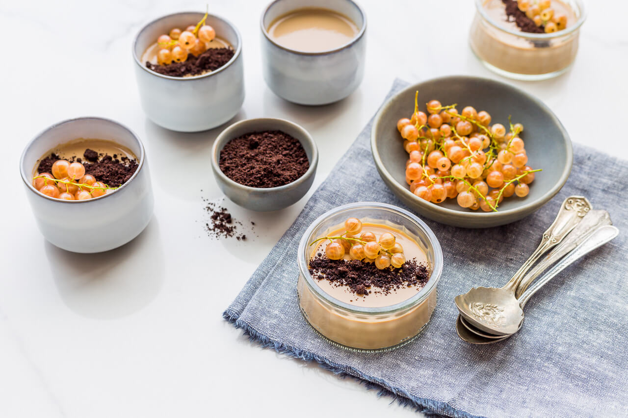
[[[526,306],[530,297],[533,296],[541,287],[544,286],[547,282],[553,279],[558,273],[566,269],[569,265],[576,262],[578,259],[584,257],[589,252],[597,249],[598,247],[602,247],[602,245],[606,244],[613,238],[617,237],[619,234],[619,230],[612,225],[603,225],[602,227],[598,227],[595,231],[593,231],[590,235],[588,235],[582,243],[580,243],[574,250],[571,250],[569,254],[560,262],[558,262],[554,267],[548,270],[543,277],[541,277],[537,282],[533,284],[533,286],[529,287],[521,297],[519,297],[519,304],[521,309]],[[463,322],[464,319],[461,315],[458,315],[458,320],[456,322],[456,332],[458,336],[468,343],[472,344],[490,344],[496,343],[497,341],[506,340],[509,335],[504,336],[491,336],[486,335],[482,330],[477,330],[472,324]],[[519,328],[521,328],[521,323],[519,323]],[[516,331],[519,331],[517,328]],[[515,332],[516,332],[515,331]],[[514,333],[513,333],[514,334]],[[497,337],[497,338],[495,338]]]

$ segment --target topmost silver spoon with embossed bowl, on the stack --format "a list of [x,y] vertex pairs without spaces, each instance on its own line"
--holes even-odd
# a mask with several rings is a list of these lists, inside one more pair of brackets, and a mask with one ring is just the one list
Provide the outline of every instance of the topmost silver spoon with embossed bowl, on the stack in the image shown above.
[[519,282],[536,260],[561,242],[589,210],[591,204],[583,196],[566,198],[556,219],[543,233],[541,244],[504,287],[474,287],[456,296],[458,311],[467,323],[495,335],[510,335],[519,330],[523,320],[523,311],[515,297]]

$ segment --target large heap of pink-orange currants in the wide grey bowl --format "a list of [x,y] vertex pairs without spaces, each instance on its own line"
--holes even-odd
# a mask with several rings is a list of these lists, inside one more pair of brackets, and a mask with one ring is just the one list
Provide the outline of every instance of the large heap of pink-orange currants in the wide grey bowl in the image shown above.
[[528,154],[520,134],[522,124],[491,124],[490,114],[467,106],[438,100],[399,119],[397,129],[409,154],[406,183],[414,195],[433,203],[456,198],[463,208],[496,211],[512,195],[527,196],[529,184],[539,169],[528,166]]

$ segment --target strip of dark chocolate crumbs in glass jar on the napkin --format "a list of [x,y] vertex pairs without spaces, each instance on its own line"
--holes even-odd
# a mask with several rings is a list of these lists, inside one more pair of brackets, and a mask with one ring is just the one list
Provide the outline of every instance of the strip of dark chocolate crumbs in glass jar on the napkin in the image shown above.
[[[336,286],[348,286],[360,296],[390,294],[403,287],[422,289],[430,279],[430,271],[416,260],[408,260],[399,269],[377,269],[374,263],[362,260],[330,260],[318,253],[310,260],[309,271],[317,280],[328,280]],[[371,291],[368,287],[374,287]]]

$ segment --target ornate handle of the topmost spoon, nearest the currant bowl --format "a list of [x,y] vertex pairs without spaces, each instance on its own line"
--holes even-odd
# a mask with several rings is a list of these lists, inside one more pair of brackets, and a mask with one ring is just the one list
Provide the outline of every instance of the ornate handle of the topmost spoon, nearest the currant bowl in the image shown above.
[[547,250],[561,242],[590,210],[591,203],[584,196],[569,196],[566,198],[563,201],[563,205],[561,205],[560,211],[558,211],[558,215],[556,215],[556,219],[549,225],[548,230],[543,233],[541,244],[503,288],[514,293],[519,286],[519,282],[521,282],[523,276],[536,260],[545,254]]

